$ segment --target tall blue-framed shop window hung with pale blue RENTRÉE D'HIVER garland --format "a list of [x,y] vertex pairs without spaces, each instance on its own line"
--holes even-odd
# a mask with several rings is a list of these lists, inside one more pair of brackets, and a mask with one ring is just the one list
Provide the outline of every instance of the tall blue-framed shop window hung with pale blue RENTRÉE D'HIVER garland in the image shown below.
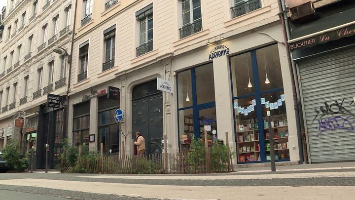
[[275,160],[289,160],[284,88],[277,44],[230,58],[238,163],[270,161],[267,111]]

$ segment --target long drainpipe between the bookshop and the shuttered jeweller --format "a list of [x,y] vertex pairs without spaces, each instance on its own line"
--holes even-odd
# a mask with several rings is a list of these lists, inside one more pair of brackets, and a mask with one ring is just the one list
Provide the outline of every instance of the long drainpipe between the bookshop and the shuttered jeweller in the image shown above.
[[[286,16],[286,9],[285,9],[285,3],[284,0],[278,0],[279,4],[279,16],[283,28],[283,33],[284,33],[284,42],[285,42],[285,47],[287,51],[287,60],[288,60],[288,67],[290,71],[290,77],[291,77],[291,84],[292,84],[292,93],[293,93],[293,107],[295,110],[295,117],[296,117],[296,130],[297,130],[297,137],[298,137],[298,152],[299,152],[299,157],[300,157],[300,163],[304,163],[304,147],[305,144],[303,143],[303,138],[305,139],[305,132],[301,130],[301,127],[303,126],[303,119],[302,115],[302,108],[301,108],[301,101],[300,101],[300,95],[299,95],[299,87],[298,87],[298,79],[297,79],[297,71],[296,71],[296,65],[291,59],[290,55],[290,50],[288,46],[288,39],[289,39],[289,26],[288,26],[288,19]],[[302,133],[301,133],[302,132]]]

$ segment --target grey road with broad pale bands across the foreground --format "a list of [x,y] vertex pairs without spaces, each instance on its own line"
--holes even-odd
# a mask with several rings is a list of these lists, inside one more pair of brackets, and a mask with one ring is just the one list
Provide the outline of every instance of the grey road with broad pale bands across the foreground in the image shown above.
[[352,199],[355,167],[218,175],[6,173],[0,190],[78,200]]

